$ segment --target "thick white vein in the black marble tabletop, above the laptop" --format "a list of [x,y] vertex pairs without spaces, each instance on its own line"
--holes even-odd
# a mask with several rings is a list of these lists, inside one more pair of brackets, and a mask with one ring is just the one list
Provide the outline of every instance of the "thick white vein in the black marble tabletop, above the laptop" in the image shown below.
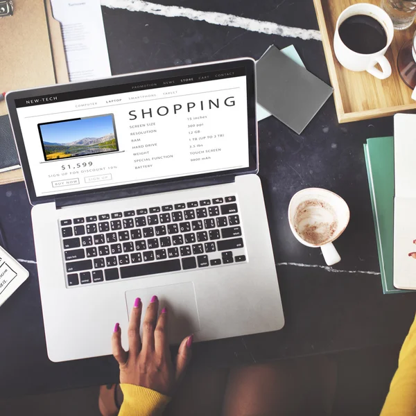
[[266,33],[267,35],[299,37],[303,40],[322,40],[320,32],[313,29],[292,28],[272,21],[248,19],[247,17],[218,12],[203,12],[180,6],[163,6],[162,4],[149,3],[143,0],[101,0],[101,6],[123,8],[131,12],[146,12],[166,17],[187,17],[191,20],[207,21],[211,24],[232,26],[246,31]]

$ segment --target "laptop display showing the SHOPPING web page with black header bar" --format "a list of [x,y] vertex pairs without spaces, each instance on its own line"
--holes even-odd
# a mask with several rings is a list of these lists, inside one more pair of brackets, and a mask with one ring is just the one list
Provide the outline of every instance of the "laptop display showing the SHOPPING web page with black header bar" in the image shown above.
[[37,196],[249,166],[243,68],[16,106]]

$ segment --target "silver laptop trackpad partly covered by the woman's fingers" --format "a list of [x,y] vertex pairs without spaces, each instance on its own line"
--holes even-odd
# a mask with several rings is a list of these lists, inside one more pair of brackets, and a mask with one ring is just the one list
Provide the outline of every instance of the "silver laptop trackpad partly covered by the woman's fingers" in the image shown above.
[[143,323],[146,308],[153,295],[159,297],[159,312],[164,306],[168,309],[169,343],[179,344],[186,336],[200,331],[196,295],[192,282],[125,292],[129,320],[135,299],[140,297],[144,306],[141,313],[141,322]]

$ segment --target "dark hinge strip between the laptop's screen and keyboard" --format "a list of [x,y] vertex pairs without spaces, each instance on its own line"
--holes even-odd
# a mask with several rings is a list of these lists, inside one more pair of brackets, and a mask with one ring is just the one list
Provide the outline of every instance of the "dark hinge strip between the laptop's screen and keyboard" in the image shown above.
[[205,177],[198,180],[178,180],[175,182],[168,182],[165,184],[155,185],[139,185],[131,189],[114,189],[112,191],[101,189],[100,191],[93,191],[88,195],[60,197],[55,200],[55,205],[58,209],[62,207],[69,207],[71,205],[89,204],[92,202],[101,202],[108,200],[115,200],[121,198],[130,198],[132,196],[149,195],[151,193],[162,193],[180,191],[182,189],[191,189],[199,187],[209,187],[212,185],[226,184],[235,182],[235,175],[223,175],[216,177]]

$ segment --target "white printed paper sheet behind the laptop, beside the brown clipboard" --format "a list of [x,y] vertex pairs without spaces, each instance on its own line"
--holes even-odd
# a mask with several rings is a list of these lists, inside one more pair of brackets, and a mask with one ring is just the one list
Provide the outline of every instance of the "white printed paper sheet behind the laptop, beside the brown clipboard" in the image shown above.
[[99,0],[52,0],[60,21],[71,82],[111,76]]

